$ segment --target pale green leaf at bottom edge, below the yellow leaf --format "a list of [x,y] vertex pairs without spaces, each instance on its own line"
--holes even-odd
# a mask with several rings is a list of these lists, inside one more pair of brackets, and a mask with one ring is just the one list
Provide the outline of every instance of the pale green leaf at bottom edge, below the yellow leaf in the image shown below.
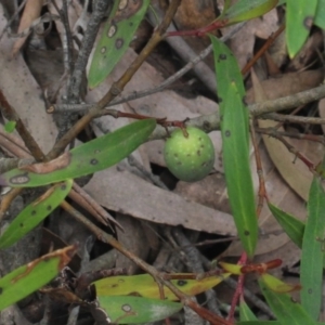
[[180,302],[132,296],[98,296],[100,307],[109,323],[139,324],[156,322],[171,316],[183,308]]

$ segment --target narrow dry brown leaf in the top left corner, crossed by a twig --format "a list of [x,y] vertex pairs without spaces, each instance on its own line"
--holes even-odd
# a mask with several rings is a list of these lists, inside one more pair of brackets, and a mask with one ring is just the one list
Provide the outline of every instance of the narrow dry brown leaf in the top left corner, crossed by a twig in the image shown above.
[[[35,20],[40,16],[43,0],[28,0],[26,2],[23,16],[21,18],[18,34],[28,28]],[[1,29],[2,30],[2,29]],[[24,46],[28,36],[20,37],[12,47],[12,55],[15,56]]]

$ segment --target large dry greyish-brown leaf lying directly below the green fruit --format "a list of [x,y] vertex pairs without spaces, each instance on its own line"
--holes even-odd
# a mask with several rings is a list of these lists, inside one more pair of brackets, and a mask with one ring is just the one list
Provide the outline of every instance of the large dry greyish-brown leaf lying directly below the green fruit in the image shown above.
[[236,233],[230,214],[185,200],[117,167],[96,172],[83,188],[105,208],[134,218],[207,233]]

